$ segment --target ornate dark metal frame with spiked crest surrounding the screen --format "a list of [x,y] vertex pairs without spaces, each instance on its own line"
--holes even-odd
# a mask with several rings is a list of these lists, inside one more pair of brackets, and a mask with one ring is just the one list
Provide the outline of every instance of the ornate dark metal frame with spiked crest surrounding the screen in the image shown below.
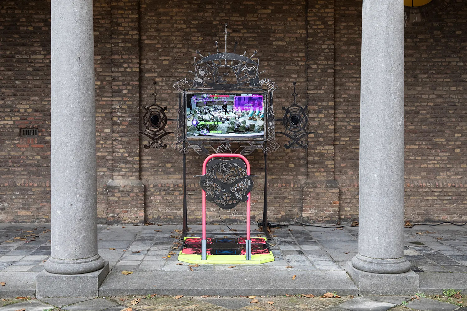
[[[211,153],[241,153],[244,155],[251,154],[256,149],[262,149],[264,153],[274,152],[279,148],[279,144],[275,141],[274,132],[274,109],[273,109],[273,91],[277,88],[276,83],[264,78],[260,80],[259,75],[264,71],[259,70],[259,58],[256,61],[253,57],[257,51],[250,57],[246,56],[246,51],[241,54],[236,54],[237,42],[235,42],[233,53],[227,52],[227,24],[225,24],[225,50],[219,52],[219,42],[215,42],[216,54],[208,53],[203,56],[198,50],[196,53],[201,57],[198,61],[194,58],[194,70],[189,71],[194,75],[192,79],[181,79],[177,81],[173,87],[178,90],[178,131],[177,142],[174,147],[179,152],[185,153],[190,149],[198,154]],[[219,69],[230,70],[235,74],[236,83],[229,83],[224,79],[228,73],[221,73]],[[188,138],[186,135],[186,97],[187,93],[205,93],[206,91],[213,93],[262,93],[266,98],[264,106],[264,137],[263,138],[230,138],[226,137],[223,140],[214,137],[198,137]],[[240,146],[232,151],[232,143],[239,143]]]

